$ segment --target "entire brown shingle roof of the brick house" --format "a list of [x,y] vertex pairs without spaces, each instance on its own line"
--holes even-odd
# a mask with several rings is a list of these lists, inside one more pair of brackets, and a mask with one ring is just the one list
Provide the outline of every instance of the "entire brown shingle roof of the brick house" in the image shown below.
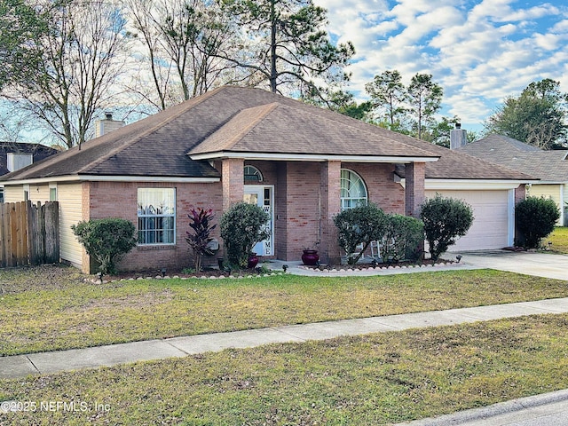
[[451,152],[327,109],[252,88],[225,86],[114,130],[7,175],[20,180],[67,175],[219,177],[188,153],[244,150],[289,154],[422,157],[426,177],[529,179],[527,175]]

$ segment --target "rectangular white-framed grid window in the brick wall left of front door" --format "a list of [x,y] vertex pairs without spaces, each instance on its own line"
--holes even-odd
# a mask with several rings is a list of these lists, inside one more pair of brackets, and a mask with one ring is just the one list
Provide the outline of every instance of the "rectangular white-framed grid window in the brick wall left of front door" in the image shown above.
[[[169,213],[158,213],[158,214],[149,214],[149,213],[140,213],[141,210],[147,210],[151,207],[154,207],[152,205],[149,206],[144,206],[144,209],[142,209],[142,202],[146,202],[146,198],[149,198],[147,196],[147,193],[151,192],[151,191],[163,191],[163,192],[172,192],[172,205],[171,206],[164,206],[167,209],[171,209],[172,211]],[[144,198],[141,199],[141,194],[142,193],[146,193],[146,196]],[[170,196],[163,196],[164,199],[168,200],[170,198]],[[137,218],[138,218],[138,228],[137,228],[137,233],[138,233],[138,246],[141,247],[148,247],[148,246],[175,246],[176,245],[176,241],[177,241],[177,221],[176,221],[176,202],[177,202],[177,191],[175,187],[168,187],[168,188],[160,188],[160,187],[139,187],[138,191],[137,191],[137,201],[138,201],[138,209],[137,209]],[[148,224],[151,222],[151,219],[154,219],[154,227],[150,227],[148,226]],[[167,219],[170,219],[172,221],[172,226],[171,227],[164,227],[164,223]],[[141,221],[146,221],[146,226],[141,229]],[[162,227],[157,227],[157,223],[161,222],[162,223]],[[148,236],[154,233],[154,241],[151,242],[144,242],[144,241],[148,241],[151,240],[148,238]],[[157,241],[159,240],[158,235],[159,233],[162,233],[162,241]],[[168,235],[169,233],[171,233],[171,237],[172,237],[172,241],[164,241],[165,240],[165,236]],[[142,235],[146,235],[146,238],[142,238]]]

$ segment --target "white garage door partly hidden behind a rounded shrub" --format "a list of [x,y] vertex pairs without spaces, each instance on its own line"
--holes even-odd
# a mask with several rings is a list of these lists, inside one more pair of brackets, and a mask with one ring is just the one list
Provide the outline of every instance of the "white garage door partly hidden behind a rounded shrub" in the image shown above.
[[[483,250],[509,246],[509,191],[426,191],[466,201],[473,208],[473,225],[448,251]],[[511,219],[512,220],[512,219]]]

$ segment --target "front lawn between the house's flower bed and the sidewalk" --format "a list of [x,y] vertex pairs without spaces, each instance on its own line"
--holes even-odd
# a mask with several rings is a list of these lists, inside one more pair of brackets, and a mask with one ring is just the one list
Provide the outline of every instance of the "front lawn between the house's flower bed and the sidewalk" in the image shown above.
[[565,281],[447,271],[352,278],[84,283],[73,268],[0,272],[0,356],[568,296]]

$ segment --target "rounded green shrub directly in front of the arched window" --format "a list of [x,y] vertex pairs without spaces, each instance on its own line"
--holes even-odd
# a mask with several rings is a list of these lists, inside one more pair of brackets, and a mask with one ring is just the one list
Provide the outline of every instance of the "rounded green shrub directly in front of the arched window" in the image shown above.
[[[334,217],[339,231],[339,246],[347,253],[347,263],[356,264],[371,241],[381,241],[386,225],[386,215],[375,204],[343,210]],[[362,245],[362,249],[357,246]],[[356,253],[355,256],[350,256]]]

